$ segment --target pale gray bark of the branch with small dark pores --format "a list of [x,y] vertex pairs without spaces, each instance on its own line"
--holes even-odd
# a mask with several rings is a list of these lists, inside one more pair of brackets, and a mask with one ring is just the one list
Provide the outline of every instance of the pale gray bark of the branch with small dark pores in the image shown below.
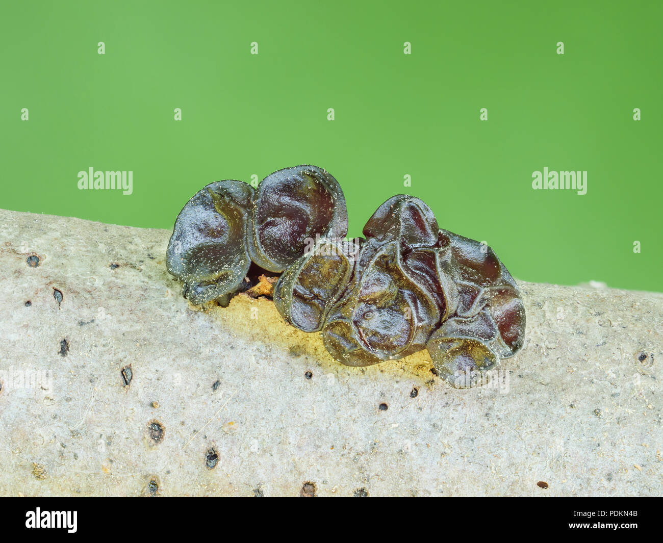
[[519,282],[524,350],[457,390],[271,300],[196,310],[169,235],[0,211],[0,495],[662,493],[662,294]]

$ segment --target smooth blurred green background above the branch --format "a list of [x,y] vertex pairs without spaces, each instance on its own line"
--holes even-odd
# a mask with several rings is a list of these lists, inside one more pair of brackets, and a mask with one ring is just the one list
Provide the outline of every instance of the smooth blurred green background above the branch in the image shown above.
[[[0,207],[172,228],[211,181],[316,164],[351,235],[406,192],[518,278],[660,291],[662,6],[5,3]],[[78,190],[90,166],[133,194]],[[587,194],[532,190],[544,166]]]

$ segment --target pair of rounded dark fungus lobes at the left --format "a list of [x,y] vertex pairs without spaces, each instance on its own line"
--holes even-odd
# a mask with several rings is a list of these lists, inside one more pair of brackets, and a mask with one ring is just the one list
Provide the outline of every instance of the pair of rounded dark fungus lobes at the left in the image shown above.
[[304,254],[308,240],[346,233],[338,182],[317,166],[294,166],[270,174],[257,190],[236,180],[202,188],[175,221],[166,267],[193,304],[227,305],[245,286],[252,261],[279,273]]

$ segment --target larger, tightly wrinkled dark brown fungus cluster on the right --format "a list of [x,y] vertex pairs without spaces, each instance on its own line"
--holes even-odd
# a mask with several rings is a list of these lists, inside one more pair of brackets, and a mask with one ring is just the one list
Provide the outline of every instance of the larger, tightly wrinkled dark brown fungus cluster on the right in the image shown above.
[[522,347],[520,294],[490,247],[440,229],[422,200],[404,195],[363,233],[351,250],[321,240],[274,289],[283,318],[322,330],[335,359],[367,366],[428,349],[442,379],[469,387]]

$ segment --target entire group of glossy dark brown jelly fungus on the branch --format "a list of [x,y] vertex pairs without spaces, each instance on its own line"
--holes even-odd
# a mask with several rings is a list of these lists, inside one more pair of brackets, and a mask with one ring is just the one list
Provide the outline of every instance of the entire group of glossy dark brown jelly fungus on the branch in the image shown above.
[[437,375],[470,387],[522,347],[516,282],[490,247],[440,229],[399,195],[350,241],[343,192],[316,166],[267,176],[257,190],[212,183],[178,215],[168,271],[194,304],[226,305],[253,262],[281,273],[274,304],[304,332],[322,331],[337,361],[368,366],[428,349]]

